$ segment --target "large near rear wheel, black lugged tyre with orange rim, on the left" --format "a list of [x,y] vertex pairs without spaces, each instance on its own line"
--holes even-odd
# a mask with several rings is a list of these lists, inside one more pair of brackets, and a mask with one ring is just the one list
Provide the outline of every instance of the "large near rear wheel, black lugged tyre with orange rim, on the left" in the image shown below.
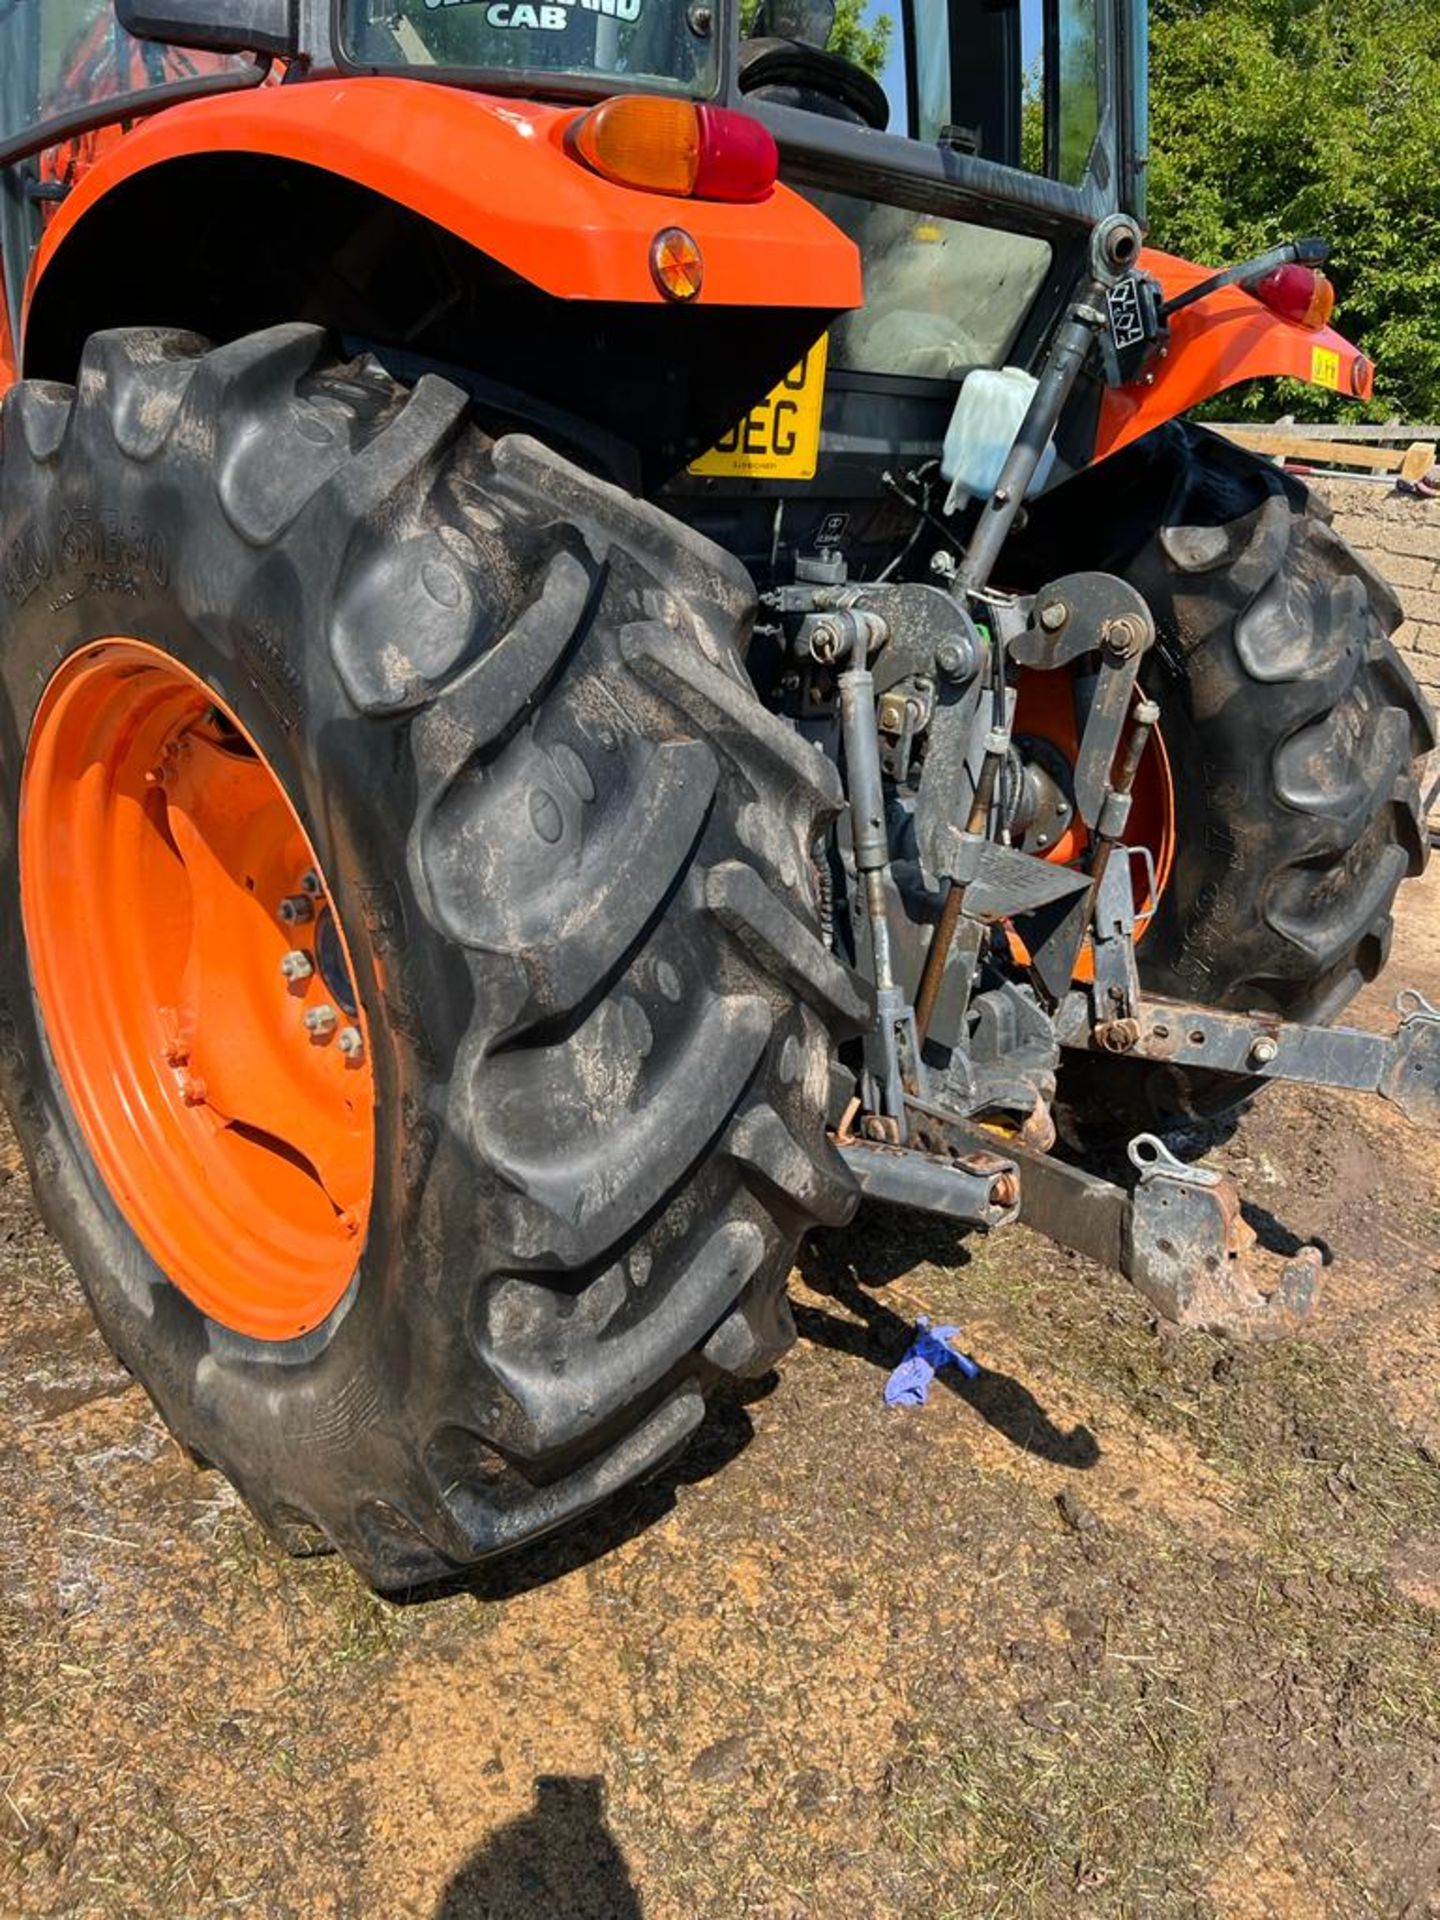
[[747,576],[303,324],[100,334],[0,430],[0,1077],[108,1340],[380,1590],[566,1523],[856,1198]]

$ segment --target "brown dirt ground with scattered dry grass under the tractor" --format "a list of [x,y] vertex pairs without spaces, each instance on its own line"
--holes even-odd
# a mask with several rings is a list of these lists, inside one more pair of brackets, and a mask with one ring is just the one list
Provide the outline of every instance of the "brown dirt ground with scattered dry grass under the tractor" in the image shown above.
[[[1440,862],[1359,1018],[1405,983]],[[0,1912],[1440,1914],[1434,1146],[1277,1091],[1212,1160],[1332,1254],[1302,1338],[876,1212],[660,1486],[392,1607],[177,1453],[6,1135]],[[985,1373],[887,1411],[916,1311]]]

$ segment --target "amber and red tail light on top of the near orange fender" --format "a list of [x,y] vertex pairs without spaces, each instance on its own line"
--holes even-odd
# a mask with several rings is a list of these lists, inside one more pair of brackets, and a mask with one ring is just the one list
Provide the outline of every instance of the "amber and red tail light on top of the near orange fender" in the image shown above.
[[693,200],[764,200],[780,156],[749,113],[616,94],[570,127],[570,152],[607,180]]

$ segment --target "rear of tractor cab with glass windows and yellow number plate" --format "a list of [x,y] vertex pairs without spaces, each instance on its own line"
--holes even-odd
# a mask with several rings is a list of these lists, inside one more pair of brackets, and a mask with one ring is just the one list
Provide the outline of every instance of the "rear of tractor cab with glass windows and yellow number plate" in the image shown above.
[[[868,0],[843,17],[833,0],[346,0],[340,19],[340,58],[365,71],[753,115],[785,184],[856,244],[864,303],[664,492],[764,582],[837,541],[854,568],[883,564],[904,515],[893,478],[939,449],[960,384],[1033,367],[1094,223],[1142,204],[1133,0]],[[643,179],[647,161],[616,165]],[[1087,382],[1069,467],[1096,413]]]

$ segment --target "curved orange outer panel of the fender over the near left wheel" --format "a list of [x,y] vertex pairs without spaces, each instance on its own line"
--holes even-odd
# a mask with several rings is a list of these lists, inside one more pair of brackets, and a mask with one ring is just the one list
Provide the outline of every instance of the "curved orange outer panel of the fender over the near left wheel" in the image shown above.
[[[46,228],[46,269],[115,186],[165,161],[265,154],[344,175],[449,228],[561,300],[662,305],[649,253],[664,227],[701,248],[701,305],[858,307],[860,255],[785,186],[730,205],[616,186],[564,150],[578,108],[409,79],[305,81],[169,108],[109,148]],[[29,301],[27,301],[29,303]]]

